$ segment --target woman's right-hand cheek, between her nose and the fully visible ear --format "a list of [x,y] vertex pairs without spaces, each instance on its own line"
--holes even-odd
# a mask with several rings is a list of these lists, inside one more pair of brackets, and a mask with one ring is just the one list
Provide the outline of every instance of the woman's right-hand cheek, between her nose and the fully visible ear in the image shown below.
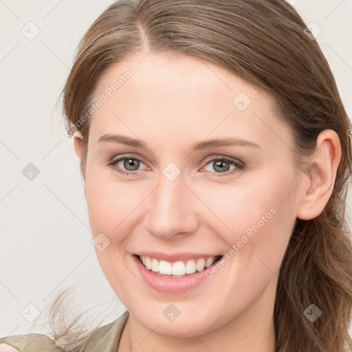
[[[230,256],[243,256],[243,263],[258,254],[276,267],[281,261],[295,216],[295,179],[281,175],[281,181],[262,175],[248,184],[214,185],[196,191],[211,212],[211,232],[227,243]],[[291,190],[291,191],[288,191]],[[216,214],[216,217],[214,216]],[[207,217],[208,218],[208,217]],[[206,217],[203,217],[206,219]],[[247,259],[246,259],[247,258]]]

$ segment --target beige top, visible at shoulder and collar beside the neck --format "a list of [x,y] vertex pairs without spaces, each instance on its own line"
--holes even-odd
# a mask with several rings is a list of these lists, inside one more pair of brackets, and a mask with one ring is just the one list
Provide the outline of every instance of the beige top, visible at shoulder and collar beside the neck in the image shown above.
[[[89,333],[82,351],[87,352],[117,352],[124,326],[129,318],[129,311],[113,322],[98,327]],[[7,336],[0,338],[0,352],[8,351],[4,344],[18,349],[20,352],[65,352],[56,346],[55,342],[41,333]]]

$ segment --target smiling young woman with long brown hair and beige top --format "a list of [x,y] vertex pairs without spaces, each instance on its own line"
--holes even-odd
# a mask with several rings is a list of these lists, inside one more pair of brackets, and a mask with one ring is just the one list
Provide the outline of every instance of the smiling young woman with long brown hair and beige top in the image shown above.
[[0,351],[351,351],[351,122],[306,27],[282,0],[101,14],[63,103],[127,311]]

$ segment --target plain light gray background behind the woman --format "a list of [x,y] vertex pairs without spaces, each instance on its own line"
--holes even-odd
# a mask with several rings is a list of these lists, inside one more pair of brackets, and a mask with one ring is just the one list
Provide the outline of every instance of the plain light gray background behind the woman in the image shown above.
[[[351,117],[352,1],[289,2],[322,29],[317,40]],[[111,3],[0,0],[0,336],[33,331],[28,320],[69,285],[78,311],[94,307],[93,322],[125,310],[96,259],[78,158],[55,109],[78,41]],[[32,181],[22,173],[30,163],[40,171]],[[35,331],[46,333],[42,317]]]

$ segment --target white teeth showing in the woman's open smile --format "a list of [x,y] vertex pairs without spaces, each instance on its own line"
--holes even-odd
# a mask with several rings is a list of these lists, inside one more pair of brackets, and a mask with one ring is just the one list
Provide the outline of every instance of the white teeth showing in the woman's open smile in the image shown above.
[[140,263],[153,274],[169,278],[182,278],[188,275],[202,272],[211,265],[214,265],[223,257],[222,255],[210,256],[208,258],[189,259],[188,261],[168,262],[162,261],[149,256],[139,256],[133,254],[139,259]]

